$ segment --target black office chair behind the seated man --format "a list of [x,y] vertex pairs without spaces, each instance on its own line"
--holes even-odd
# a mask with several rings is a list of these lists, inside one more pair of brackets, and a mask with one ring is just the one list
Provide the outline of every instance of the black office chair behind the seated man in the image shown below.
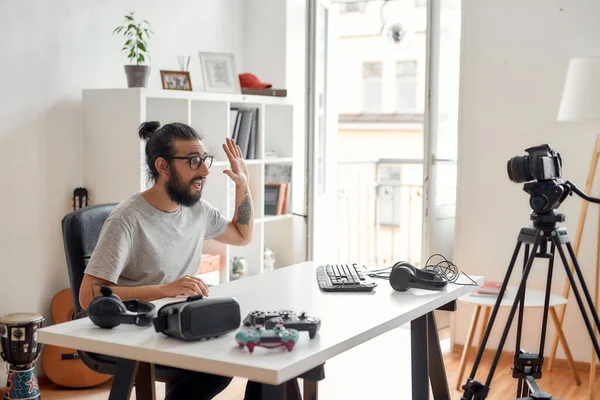
[[[102,225],[115,206],[116,203],[108,203],[83,207],[67,214],[62,220],[63,243],[73,297],[74,319],[87,316],[87,312],[79,304],[79,288],[89,256],[98,243]],[[118,358],[80,350],[77,352],[83,363],[91,370],[101,374],[115,374]],[[171,368],[155,366],[155,379],[159,382],[169,385],[175,374],[176,371]]]

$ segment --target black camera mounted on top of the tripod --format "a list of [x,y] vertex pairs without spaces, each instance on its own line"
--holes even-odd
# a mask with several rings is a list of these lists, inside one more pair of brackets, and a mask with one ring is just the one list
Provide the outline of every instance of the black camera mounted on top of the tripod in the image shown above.
[[562,159],[560,153],[548,144],[525,149],[526,156],[516,156],[508,160],[506,167],[511,181],[522,183],[532,180],[547,181],[561,177]]

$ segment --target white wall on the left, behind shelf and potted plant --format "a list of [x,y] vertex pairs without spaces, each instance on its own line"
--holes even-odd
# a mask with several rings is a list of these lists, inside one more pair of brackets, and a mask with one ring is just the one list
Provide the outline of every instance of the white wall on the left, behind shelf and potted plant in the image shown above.
[[52,297],[69,286],[61,219],[81,184],[81,89],[126,87],[123,40],[112,30],[130,11],[149,20],[149,87],[161,87],[160,69],[178,68],[180,52],[192,56],[196,86],[199,51],[232,52],[242,69],[244,3],[0,3],[0,315],[39,312],[50,321]]

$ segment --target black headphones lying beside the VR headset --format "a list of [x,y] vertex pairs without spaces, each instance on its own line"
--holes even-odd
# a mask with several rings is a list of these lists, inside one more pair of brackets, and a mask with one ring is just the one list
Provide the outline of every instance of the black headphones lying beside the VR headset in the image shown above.
[[152,325],[156,306],[141,300],[125,300],[108,286],[100,288],[102,296],[94,297],[88,307],[88,316],[100,328],[111,329],[120,324]]

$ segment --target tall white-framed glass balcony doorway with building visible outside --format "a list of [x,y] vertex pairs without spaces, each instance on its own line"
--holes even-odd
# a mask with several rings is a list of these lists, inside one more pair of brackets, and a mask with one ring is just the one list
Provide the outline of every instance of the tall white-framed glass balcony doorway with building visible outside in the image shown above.
[[309,4],[309,259],[451,259],[460,0]]

